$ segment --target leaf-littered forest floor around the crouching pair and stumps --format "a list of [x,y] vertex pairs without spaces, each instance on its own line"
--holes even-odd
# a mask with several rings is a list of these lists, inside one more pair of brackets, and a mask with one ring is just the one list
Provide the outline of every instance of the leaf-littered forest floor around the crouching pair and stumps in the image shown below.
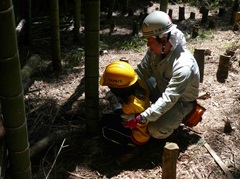
[[[138,1],[137,1],[138,2]],[[148,8],[153,11],[159,4],[154,3]],[[138,154],[127,162],[119,165],[118,156],[112,156],[104,151],[98,136],[87,134],[84,109],[84,60],[83,46],[73,43],[70,32],[61,32],[61,50],[63,73],[57,76],[51,70],[51,44],[49,38],[35,38],[34,47],[24,51],[19,45],[22,60],[30,53],[41,56],[42,62],[28,93],[25,95],[26,116],[29,127],[31,148],[49,137],[50,143],[45,150],[33,157],[32,172],[34,179],[48,178],[161,178],[162,153],[166,142],[178,144],[180,153],[177,160],[177,178],[228,178],[223,168],[218,165],[209,150],[208,144],[219,157],[226,170],[235,178],[240,178],[240,49],[239,31],[233,31],[230,25],[231,12],[226,11],[218,16],[218,10],[209,12],[209,20],[216,20],[216,27],[208,28],[207,23],[201,23],[202,14],[199,9],[185,5],[185,20],[178,21],[179,6],[169,4],[173,10],[172,19],[187,38],[187,46],[194,53],[195,49],[205,50],[205,66],[200,93],[209,93],[205,99],[199,99],[207,110],[203,120],[193,128],[182,126],[181,133],[176,138],[164,141],[149,142]],[[195,12],[195,20],[189,19],[190,12]],[[115,30],[111,36],[112,42],[131,38],[132,22],[140,14],[127,17],[114,13]],[[104,16],[104,15],[103,15]],[[105,14],[106,16],[106,14]],[[200,25],[199,36],[191,38],[194,24]],[[40,31],[33,31],[35,36]],[[109,33],[109,24],[101,25],[101,34]],[[140,33],[141,35],[141,33]],[[142,50],[122,50],[109,46],[102,48],[104,53],[99,59],[99,73],[104,71],[111,61],[125,57],[134,67],[144,56],[146,45]],[[224,82],[216,78],[220,55],[233,49],[230,59],[228,77]],[[22,51],[21,51],[22,50]],[[24,53],[23,53],[24,51]],[[26,53],[27,52],[27,53]],[[83,86],[82,86],[83,85]],[[103,99],[106,88],[99,87],[100,115],[109,112],[109,105]],[[227,123],[229,121],[230,123]],[[226,123],[231,130],[224,130]]]

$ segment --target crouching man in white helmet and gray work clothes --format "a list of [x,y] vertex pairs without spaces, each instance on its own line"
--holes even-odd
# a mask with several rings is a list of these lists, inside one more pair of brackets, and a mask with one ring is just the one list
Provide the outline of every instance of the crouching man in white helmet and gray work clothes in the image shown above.
[[199,69],[186,48],[184,34],[161,11],[150,13],[142,24],[148,51],[136,72],[151,89],[152,104],[127,128],[148,122],[148,132],[157,139],[169,137],[196,105]]

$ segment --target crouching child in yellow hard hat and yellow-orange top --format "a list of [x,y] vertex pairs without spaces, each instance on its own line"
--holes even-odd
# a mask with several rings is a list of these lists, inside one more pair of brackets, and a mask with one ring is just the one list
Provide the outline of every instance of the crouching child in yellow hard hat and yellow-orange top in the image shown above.
[[125,128],[123,123],[135,118],[135,115],[150,106],[146,84],[138,79],[138,75],[127,61],[119,60],[106,67],[100,85],[109,87],[110,91],[105,99],[113,109],[113,113],[104,114],[101,118],[104,139],[118,144],[119,148],[145,144],[150,139],[147,123],[139,123],[134,129]]

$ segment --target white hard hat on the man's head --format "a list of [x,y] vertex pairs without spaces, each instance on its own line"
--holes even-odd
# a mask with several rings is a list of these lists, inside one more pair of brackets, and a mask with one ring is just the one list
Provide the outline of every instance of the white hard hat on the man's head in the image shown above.
[[154,36],[161,37],[175,28],[176,25],[172,23],[172,19],[163,11],[150,13],[142,24],[143,37],[145,38]]

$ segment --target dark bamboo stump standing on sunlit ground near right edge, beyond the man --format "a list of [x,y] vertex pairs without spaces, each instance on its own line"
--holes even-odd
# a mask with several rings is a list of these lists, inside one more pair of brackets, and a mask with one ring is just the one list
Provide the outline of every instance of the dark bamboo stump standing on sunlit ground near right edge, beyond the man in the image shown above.
[[217,80],[220,83],[224,83],[228,77],[228,67],[231,56],[228,55],[220,55],[220,60],[218,64],[217,70]]

